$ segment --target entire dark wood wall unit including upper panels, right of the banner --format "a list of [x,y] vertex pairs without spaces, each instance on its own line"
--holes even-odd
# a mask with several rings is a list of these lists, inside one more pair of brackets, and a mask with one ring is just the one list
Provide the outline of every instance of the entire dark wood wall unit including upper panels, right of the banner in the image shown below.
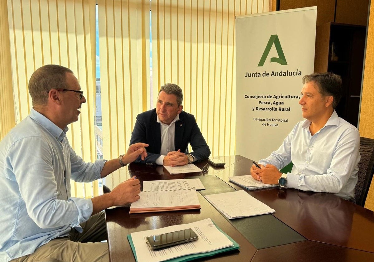
[[278,0],[279,10],[317,6],[315,72],[339,74],[336,111],[357,127],[369,0]]

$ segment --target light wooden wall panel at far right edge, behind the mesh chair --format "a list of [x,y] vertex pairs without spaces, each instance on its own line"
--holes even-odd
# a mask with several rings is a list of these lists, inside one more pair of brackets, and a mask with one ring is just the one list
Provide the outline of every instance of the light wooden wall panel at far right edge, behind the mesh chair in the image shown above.
[[[362,137],[374,138],[374,5],[371,4],[368,23],[368,37],[364,65],[364,80],[361,94],[359,131]],[[374,181],[371,182],[365,207],[374,210]]]

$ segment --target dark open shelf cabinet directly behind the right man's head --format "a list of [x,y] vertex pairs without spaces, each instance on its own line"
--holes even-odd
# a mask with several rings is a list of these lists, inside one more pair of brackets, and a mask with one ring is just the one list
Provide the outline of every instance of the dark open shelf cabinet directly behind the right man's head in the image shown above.
[[357,127],[366,26],[329,22],[316,29],[314,71],[339,74],[343,96],[336,111]]

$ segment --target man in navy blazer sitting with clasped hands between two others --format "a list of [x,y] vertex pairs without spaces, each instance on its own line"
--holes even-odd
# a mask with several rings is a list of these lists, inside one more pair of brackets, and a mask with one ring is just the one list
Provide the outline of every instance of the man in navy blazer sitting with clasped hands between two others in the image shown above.
[[[130,144],[149,144],[148,156],[134,162],[157,165],[186,165],[207,159],[209,146],[193,115],[182,111],[182,89],[172,83],[161,86],[156,108],[137,116]],[[188,143],[193,152],[188,153]]]

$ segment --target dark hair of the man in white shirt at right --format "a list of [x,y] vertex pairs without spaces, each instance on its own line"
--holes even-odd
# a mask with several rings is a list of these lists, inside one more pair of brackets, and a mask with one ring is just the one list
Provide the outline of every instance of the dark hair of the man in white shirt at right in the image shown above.
[[314,81],[319,87],[322,96],[332,95],[334,101],[332,107],[335,108],[342,96],[341,77],[330,72],[308,74],[303,77],[303,84]]

